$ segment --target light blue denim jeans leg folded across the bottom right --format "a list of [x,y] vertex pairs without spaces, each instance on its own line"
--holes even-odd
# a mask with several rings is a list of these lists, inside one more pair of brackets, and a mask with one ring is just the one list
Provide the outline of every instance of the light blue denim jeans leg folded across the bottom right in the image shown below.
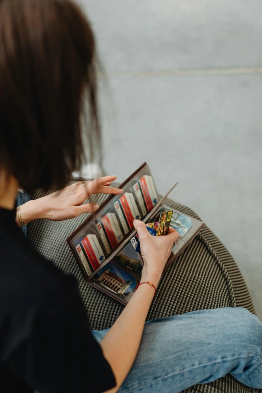
[[[108,330],[92,333],[99,342]],[[227,373],[262,388],[262,324],[244,308],[147,322],[137,358],[118,392],[177,393]]]

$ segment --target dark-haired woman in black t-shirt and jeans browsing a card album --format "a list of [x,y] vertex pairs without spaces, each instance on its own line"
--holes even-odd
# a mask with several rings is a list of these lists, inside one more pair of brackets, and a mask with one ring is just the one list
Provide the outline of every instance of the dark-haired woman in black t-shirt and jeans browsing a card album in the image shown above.
[[[0,0],[0,377],[5,391],[179,392],[230,372],[262,387],[262,326],[247,310],[196,311],[145,325],[178,233],[135,220],[142,282],[111,327],[90,331],[75,280],[38,255],[19,225],[93,211],[90,193],[120,193],[115,176],[77,183],[20,207],[18,188],[61,189],[100,149],[95,45],[71,0]],[[17,222],[15,221],[17,220]],[[18,225],[19,224],[19,225]],[[143,333],[144,331],[144,333]],[[143,336],[142,336],[143,334]],[[142,340],[141,340],[142,339]],[[3,389],[2,389],[3,390]]]

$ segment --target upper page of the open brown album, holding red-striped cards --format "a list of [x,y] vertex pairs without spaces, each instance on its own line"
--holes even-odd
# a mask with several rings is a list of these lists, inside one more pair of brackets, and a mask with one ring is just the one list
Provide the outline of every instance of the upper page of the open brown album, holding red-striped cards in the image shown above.
[[122,194],[110,195],[67,238],[86,281],[89,282],[135,236],[133,220],[148,222],[174,187],[160,199],[150,167],[144,163],[119,186],[123,189]]

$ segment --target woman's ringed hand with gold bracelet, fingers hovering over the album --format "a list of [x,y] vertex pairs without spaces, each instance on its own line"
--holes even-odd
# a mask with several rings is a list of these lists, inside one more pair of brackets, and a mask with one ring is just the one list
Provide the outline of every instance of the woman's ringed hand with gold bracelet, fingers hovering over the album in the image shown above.
[[21,217],[25,223],[39,218],[61,221],[95,211],[99,205],[82,203],[91,194],[121,194],[123,190],[110,187],[115,179],[116,176],[104,176],[91,181],[77,182],[60,191],[29,201],[20,207]]

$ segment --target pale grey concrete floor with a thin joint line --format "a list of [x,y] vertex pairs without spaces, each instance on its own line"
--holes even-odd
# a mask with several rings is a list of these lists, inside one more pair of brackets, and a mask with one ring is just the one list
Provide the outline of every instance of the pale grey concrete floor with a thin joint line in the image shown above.
[[[262,320],[262,3],[81,0],[108,75],[104,164],[147,161],[234,256]],[[109,93],[108,93],[109,92]]]

